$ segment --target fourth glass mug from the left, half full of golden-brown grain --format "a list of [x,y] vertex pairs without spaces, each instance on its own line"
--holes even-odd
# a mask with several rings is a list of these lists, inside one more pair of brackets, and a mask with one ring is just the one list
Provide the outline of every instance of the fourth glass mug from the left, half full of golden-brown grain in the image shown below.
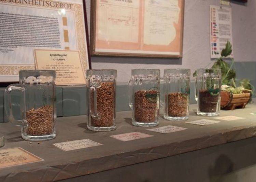
[[188,119],[190,69],[165,69],[163,73],[165,96],[164,115],[166,120]]

